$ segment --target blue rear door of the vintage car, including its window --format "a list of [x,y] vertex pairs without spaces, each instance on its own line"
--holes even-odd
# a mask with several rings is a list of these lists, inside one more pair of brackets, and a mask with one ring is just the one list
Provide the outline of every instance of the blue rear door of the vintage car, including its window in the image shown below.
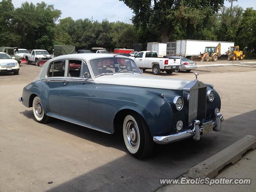
[[61,113],[60,93],[64,83],[66,60],[56,60],[50,63],[47,78],[44,80],[46,85],[46,100],[48,100],[48,111]]

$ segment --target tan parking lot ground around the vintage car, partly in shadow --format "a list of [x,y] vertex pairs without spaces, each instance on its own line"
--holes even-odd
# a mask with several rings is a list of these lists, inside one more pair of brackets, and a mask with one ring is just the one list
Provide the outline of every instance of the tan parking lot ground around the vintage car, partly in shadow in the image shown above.
[[[18,98],[39,71],[40,67],[22,64],[19,75],[0,74],[3,192],[154,191],[161,187],[160,178],[176,178],[240,138],[256,135],[256,67],[198,68],[198,79],[214,84],[221,96],[222,131],[206,134],[198,142],[155,145],[153,154],[143,160],[128,154],[120,134],[104,134],[61,120],[37,123],[32,108]],[[193,72],[161,76],[195,78]]]

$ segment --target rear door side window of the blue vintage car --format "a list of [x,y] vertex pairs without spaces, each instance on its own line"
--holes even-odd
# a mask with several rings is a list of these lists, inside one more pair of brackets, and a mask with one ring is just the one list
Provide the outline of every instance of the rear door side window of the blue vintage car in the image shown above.
[[50,63],[48,77],[64,77],[66,60],[58,60]]

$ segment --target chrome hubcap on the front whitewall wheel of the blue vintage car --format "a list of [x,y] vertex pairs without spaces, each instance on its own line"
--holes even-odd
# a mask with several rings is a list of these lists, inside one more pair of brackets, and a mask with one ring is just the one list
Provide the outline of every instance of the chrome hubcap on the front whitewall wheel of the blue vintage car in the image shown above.
[[138,128],[133,121],[128,121],[126,124],[127,140],[132,148],[138,145]]

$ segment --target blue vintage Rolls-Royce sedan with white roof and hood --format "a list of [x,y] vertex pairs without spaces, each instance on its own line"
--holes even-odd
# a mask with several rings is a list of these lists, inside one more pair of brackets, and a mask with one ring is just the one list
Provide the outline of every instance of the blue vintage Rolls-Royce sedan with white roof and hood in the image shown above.
[[19,100],[40,123],[52,117],[108,134],[120,130],[136,158],[148,156],[154,142],[200,140],[224,120],[212,85],[143,75],[133,60],[114,54],[52,58]]

